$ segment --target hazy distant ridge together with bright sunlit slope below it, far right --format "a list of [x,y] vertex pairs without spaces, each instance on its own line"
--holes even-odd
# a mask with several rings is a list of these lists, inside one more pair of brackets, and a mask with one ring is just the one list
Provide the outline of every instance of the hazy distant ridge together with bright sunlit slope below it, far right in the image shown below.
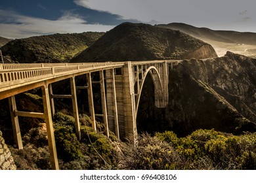
[[156,27],[176,29],[196,37],[213,46],[218,56],[224,56],[227,51],[256,58],[256,33],[238,31],[214,31],[182,23],[159,24]]

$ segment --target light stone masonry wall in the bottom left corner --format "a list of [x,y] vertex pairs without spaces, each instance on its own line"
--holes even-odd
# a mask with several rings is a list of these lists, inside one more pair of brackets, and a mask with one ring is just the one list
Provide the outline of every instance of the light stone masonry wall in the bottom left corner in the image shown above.
[[0,131],[0,170],[15,170],[16,165],[12,158],[11,152],[5,144],[5,140],[2,137],[2,132]]

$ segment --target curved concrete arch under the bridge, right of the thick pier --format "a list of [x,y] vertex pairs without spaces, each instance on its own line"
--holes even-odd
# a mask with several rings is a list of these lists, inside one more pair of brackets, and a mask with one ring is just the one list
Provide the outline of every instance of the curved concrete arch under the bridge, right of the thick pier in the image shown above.
[[[139,92],[137,93],[137,97],[135,100],[135,107],[136,107],[136,112],[135,112],[135,118],[137,118],[137,114],[138,114],[138,109],[139,109],[139,104],[140,104],[140,96],[142,93],[142,89],[144,86],[144,82],[146,80],[146,76],[148,75],[148,73],[150,74],[152,81],[154,83],[154,95],[155,95],[155,105],[156,107],[160,107],[160,98],[163,98],[163,83],[161,81],[161,76],[160,73],[158,72],[158,69],[154,66],[150,66],[148,67],[148,69],[146,69],[146,72],[143,73],[142,76],[142,81],[139,84],[139,88],[137,88],[137,90],[139,90]],[[139,75],[137,75],[138,77]],[[137,81],[138,82],[138,81]],[[136,83],[135,83],[136,84]],[[163,99],[161,99],[162,101]]]

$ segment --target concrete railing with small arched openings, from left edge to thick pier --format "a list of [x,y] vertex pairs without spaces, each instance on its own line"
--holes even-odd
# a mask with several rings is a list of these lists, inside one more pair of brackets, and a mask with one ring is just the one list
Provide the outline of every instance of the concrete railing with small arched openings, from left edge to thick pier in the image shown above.
[[124,62],[1,64],[0,88],[58,75],[122,67]]

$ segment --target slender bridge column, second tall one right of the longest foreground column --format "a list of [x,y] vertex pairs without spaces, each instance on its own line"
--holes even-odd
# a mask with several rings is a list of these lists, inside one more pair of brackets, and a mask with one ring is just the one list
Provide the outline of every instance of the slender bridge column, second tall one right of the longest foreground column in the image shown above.
[[91,73],[87,74],[87,86],[88,86],[88,100],[89,100],[89,110],[91,113],[91,122],[92,122],[93,130],[96,132],[95,107],[93,103],[93,86],[91,81]]

